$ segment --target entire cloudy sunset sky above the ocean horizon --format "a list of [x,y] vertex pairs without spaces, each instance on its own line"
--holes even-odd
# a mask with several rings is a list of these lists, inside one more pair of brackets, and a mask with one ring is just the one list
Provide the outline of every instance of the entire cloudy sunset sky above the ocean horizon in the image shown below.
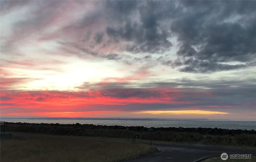
[[0,1],[1,117],[256,121],[256,1]]

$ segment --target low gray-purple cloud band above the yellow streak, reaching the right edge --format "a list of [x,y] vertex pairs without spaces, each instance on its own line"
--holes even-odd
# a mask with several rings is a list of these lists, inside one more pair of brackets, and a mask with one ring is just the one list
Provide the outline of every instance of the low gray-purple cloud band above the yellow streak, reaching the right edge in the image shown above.
[[[243,80],[212,80],[206,81],[203,78],[191,80],[187,78],[177,79],[166,82],[150,82],[137,85],[141,88],[129,88],[132,83],[129,82],[108,82],[104,83],[84,83],[78,87],[79,89],[91,89],[101,91],[103,96],[116,98],[138,97],[140,99],[153,97],[171,97],[178,104],[155,104],[152,109],[158,108],[179,108],[179,107],[226,107],[232,109],[234,107],[240,109],[255,108],[256,79],[251,78]],[[143,87],[154,87],[143,88]],[[163,91],[161,87],[165,87],[167,91]],[[158,89],[160,88],[160,89]],[[150,109],[149,105],[140,105],[145,109]]]

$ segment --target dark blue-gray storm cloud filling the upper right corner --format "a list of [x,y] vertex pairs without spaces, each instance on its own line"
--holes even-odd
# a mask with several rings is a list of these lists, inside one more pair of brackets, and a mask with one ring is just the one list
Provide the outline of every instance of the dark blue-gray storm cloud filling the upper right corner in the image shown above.
[[[183,5],[187,12],[171,26],[182,43],[177,55],[186,66],[180,71],[205,73],[238,69],[245,67],[242,63],[255,60],[256,12],[252,6],[255,7],[256,2],[183,2]],[[248,10],[241,6],[247,6]],[[230,61],[242,63],[225,64]]]

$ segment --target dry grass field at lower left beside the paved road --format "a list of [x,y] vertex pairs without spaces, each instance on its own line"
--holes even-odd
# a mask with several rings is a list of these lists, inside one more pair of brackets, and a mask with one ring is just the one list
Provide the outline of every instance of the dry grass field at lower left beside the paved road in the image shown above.
[[1,162],[121,162],[156,152],[154,146],[66,136],[1,139]]

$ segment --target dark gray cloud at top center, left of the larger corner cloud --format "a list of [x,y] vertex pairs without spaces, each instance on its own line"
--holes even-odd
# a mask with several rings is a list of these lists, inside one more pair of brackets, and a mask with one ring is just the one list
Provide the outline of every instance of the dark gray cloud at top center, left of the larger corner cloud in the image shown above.
[[[154,4],[159,2],[128,2],[128,1],[109,1],[111,7],[117,7],[118,10],[112,8],[115,18],[119,21],[117,26],[108,26],[106,33],[115,41],[125,40],[132,41],[127,44],[126,50],[138,52],[156,53],[167,50],[172,43],[167,40],[169,33],[165,31],[159,24],[158,13],[154,12]],[[134,14],[137,13],[137,14]],[[129,15],[130,14],[130,15]],[[132,16],[138,16],[139,21],[134,21]]]

